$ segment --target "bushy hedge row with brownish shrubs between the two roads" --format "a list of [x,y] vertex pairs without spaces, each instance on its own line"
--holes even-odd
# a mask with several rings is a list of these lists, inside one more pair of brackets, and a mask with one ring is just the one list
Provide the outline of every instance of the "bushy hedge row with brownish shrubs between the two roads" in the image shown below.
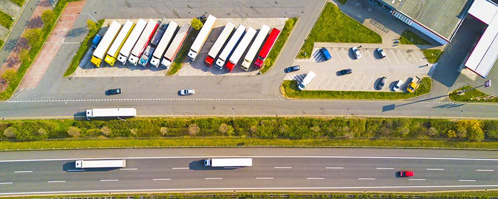
[[242,136],[498,140],[498,121],[406,118],[133,118],[127,121],[8,120],[0,139]]

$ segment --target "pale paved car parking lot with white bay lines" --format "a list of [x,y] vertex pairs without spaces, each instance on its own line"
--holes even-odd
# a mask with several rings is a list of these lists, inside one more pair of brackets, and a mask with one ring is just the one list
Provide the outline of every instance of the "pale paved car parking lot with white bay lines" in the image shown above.
[[[432,67],[418,49],[383,48],[386,57],[381,59],[374,52],[374,45],[360,48],[360,59],[355,58],[350,48],[329,47],[332,59],[328,61],[319,53],[319,48],[315,48],[311,58],[294,61],[293,65],[300,65],[301,70],[288,74],[285,79],[300,82],[305,74],[313,71],[317,76],[306,90],[377,91],[375,85],[378,80],[386,77],[385,86],[378,91],[390,91],[396,80],[402,80],[404,84],[401,88],[405,88],[407,81],[415,76],[427,76]],[[338,71],[348,68],[353,70],[352,74],[339,76]],[[404,92],[404,89],[399,92]]]

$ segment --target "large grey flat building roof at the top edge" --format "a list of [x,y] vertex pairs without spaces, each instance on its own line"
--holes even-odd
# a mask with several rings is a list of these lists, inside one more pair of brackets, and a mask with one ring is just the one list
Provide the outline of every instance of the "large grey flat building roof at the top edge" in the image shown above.
[[468,0],[384,0],[399,12],[450,40]]

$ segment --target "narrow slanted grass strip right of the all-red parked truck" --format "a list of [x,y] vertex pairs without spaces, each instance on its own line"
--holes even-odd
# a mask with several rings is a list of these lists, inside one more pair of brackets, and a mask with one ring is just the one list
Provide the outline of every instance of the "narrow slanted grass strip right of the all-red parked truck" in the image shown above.
[[266,73],[266,71],[270,70],[270,68],[273,66],[278,57],[278,54],[280,54],[280,51],[285,45],[285,42],[287,41],[289,34],[292,32],[292,29],[294,29],[296,22],[297,18],[290,18],[287,21],[285,21],[285,26],[280,32],[280,35],[278,36],[278,39],[275,42],[275,45],[273,45],[270,54],[264,60],[263,68],[259,72],[261,72],[262,74]]

